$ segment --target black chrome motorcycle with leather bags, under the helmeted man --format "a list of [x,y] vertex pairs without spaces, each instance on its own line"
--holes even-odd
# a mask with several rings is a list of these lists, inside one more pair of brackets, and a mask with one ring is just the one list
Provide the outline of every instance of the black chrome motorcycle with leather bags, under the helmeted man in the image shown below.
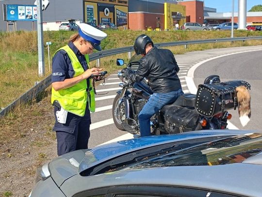
[[[116,64],[123,66],[124,60],[117,59]],[[129,62],[128,69],[138,67],[138,61]],[[132,82],[123,72],[118,72],[122,81],[113,102],[115,126],[131,134],[139,134],[138,115],[147,100],[153,94],[144,78],[141,82]],[[197,94],[185,93],[170,104],[163,106],[150,119],[151,135],[177,134],[194,130],[227,129],[231,119],[229,109],[236,109],[236,87],[250,89],[250,84],[243,80],[221,82],[217,75],[208,76],[198,86]]]

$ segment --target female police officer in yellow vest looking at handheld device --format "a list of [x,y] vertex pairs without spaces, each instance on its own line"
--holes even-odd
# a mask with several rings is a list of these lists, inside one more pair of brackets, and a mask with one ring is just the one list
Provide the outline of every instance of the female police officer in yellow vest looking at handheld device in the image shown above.
[[95,111],[92,74],[102,69],[89,68],[88,54],[101,50],[100,42],[107,34],[81,23],[68,45],[58,49],[52,59],[52,94],[57,153],[87,149],[90,137],[90,111]]

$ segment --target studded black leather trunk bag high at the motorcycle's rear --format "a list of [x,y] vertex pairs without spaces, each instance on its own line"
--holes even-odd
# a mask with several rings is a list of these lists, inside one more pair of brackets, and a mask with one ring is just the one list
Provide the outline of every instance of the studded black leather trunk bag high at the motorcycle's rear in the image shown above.
[[250,84],[243,80],[199,85],[195,102],[197,112],[209,118],[226,110],[236,109],[236,87],[238,86],[250,89]]

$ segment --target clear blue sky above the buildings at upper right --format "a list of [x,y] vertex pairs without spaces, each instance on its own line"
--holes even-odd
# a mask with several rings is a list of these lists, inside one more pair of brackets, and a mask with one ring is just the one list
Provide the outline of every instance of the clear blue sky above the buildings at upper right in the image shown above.
[[[232,0],[204,0],[204,5],[216,8],[216,12],[232,12]],[[246,11],[254,5],[262,5],[262,0],[246,0]],[[234,12],[238,12],[238,0],[234,0]]]

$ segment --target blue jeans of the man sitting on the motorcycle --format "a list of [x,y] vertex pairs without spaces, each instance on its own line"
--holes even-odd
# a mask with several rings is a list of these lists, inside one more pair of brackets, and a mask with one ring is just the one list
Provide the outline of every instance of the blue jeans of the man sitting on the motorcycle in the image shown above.
[[153,93],[138,115],[141,137],[150,136],[150,118],[163,106],[174,103],[183,94],[181,89],[167,93]]

